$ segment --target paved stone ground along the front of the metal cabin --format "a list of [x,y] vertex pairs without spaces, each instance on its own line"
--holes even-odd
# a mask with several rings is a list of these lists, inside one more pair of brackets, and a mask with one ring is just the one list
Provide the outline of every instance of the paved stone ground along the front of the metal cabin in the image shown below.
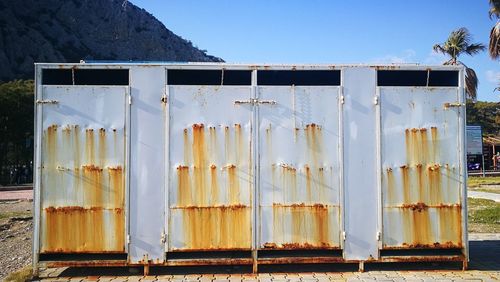
[[[411,264],[384,264],[383,270],[368,270],[360,273],[352,269],[345,272],[301,272],[252,274],[162,274],[140,276],[126,268],[101,270],[76,268],[42,269],[42,281],[497,281],[500,280],[500,234],[469,234],[469,270],[458,270],[455,265],[446,268],[426,265],[420,268]],[[338,266],[338,265],[337,265]],[[365,265],[368,268],[368,265]],[[334,267],[332,267],[334,268]],[[432,270],[429,270],[432,269]]]

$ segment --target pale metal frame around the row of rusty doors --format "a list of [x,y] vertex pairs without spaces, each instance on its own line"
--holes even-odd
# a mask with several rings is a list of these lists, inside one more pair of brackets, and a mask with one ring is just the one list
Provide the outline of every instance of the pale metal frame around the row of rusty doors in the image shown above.
[[[165,130],[163,136],[163,144],[165,151],[163,152],[163,159],[164,159],[164,185],[162,187],[162,197],[164,199],[164,209],[162,211],[163,216],[165,217],[164,220],[164,226],[162,227],[162,230],[164,232],[164,238],[163,242],[161,242],[161,248],[164,250],[163,252],[163,262],[159,263],[158,265],[179,265],[179,264],[189,264],[189,262],[179,262],[179,261],[169,261],[167,257],[167,252],[169,249],[169,242],[170,242],[170,196],[169,196],[169,182],[170,182],[170,164],[169,164],[169,159],[170,159],[170,142],[169,142],[169,136],[170,136],[170,86],[168,85],[168,72],[167,70],[169,69],[197,69],[197,70],[250,70],[251,71],[251,99],[259,99],[259,85],[257,85],[257,76],[258,76],[258,71],[260,70],[340,70],[340,86],[339,86],[339,92],[338,92],[338,104],[336,105],[339,110],[339,140],[338,140],[338,150],[339,150],[339,161],[340,161],[340,167],[339,167],[339,181],[340,181],[340,187],[339,187],[339,225],[340,225],[340,236],[343,238],[340,238],[340,247],[343,250],[342,255],[343,259],[339,258],[330,258],[330,262],[364,262],[363,260],[347,260],[346,259],[346,251],[345,251],[345,237],[343,234],[346,232],[346,221],[348,219],[346,218],[346,195],[345,192],[349,187],[346,187],[346,179],[345,179],[345,171],[344,171],[344,161],[347,156],[345,156],[344,152],[344,111],[348,110],[344,106],[344,97],[345,97],[345,77],[344,77],[344,71],[346,69],[350,68],[372,68],[375,70],[429,70],[429,67],[427,66],[419,66],[419,65],[384,65],[384,66],[376,66],[376,65],[329,65],[329,64],[320,64],[320,65],[280,65],[280,64],[274,64],[274,65],[247,65],[247,64],[220,64],[220,63],[163,63],[163,62],[150,62],[150,63],[91,63],[91,64],[86,64],[86,63],[79,63],[79,64],[36,64],[35,68],[35,99],[39,100],[43,98],[43,87],[41,85],[42,81],[42,69],[130,69],[129,73],[129,81],[132,81],[132,76],[133,76],[133,71],[132,69],[136,67],[158,67],[162,68],[165,70],[165,87],[164,87],[164,97],[166,97],[166,103],[164,105],[164,112],[163,114],[163,129]],[[459,71],[459,86],[457,88],[457,100],[460,104],[465,103],[465,92],[464,92],[464,69],[463,67],[457,67],[457,66],[433,66],[430,68],[431,70],[454,70],[454,71]],[[375,72],[376,75],[376,72]],[[376,76],[375,76],[375,82],[377,81]],[[128,99],[132,96],[132,89],[131,86],[132,83],[129,83],[129,86],[127,87],[126,94]],[[429,87],[425,87],[429,88]],[[148,95],[151,95],[148,93]],[[367,93],[369,96],[370,93]],[[373,99],[376,99],[378,102],[375,103],[375,134],[376,134],[376,144],[375,144],[375,149],[376,149],[376,167],[374,168],[376,171],[376,188],[377,188],[377,245],[378,249],[380,252],[381,249],[381,244],[382,244],[382,238],[383,238],[383,219],[382,219],[382,208],[383,208],[383,195],[382,195],[382,175],[381,175],[381,169],[382,169],[382,144],[381,144],[381,99],[380,99],[380,87],[375,86],[375,93],[371,95],[370,97],[373,97]],[[370,98],[372,99],[372,98]],[[160,101],[158,101],[160,102]],[[374,101],[375,102],[375,101]],[[34,165],[36,166],[36,169],[34,169],[34,174],[35,174],[35,189],[34,189],[34,213],[35,213],[35,220],[34,220],[34,237],[33,237],[33,268],[36,271],[38,269],[38,254],[39,254],[39,247],[40,247],[40,208],[41,208],[41,156],[42,156],[42,148],[40,147],[41,144],[41,139],[42,139],[42,111],[43,104],[36,104],[35,103],[35,152],[34,152]],[[129,240],[130,236],[130,224],[131,224],[131,213],[133,212],[131,209],[131,147],[133,144],[131,144],[131,134],[132,133],[132,121],[131,121],[131,116],[132,116],[132,107],[130,103],[126,103],[126,117],[125,117],[125,238],[126,238],[126,246],[125,250],[127,252],[128,260],[126,263],[123,263],[123,265],[135,265],[134,262],[131,261],[130,258],[130,252],[129,248],[130,245],[132,244]],[[260,224],[260,218],[261,218],[261,208],[260,208],[260,172],[259,172],[259,163],[260,163],[260,134],[259,134],[259,122],[260,122],[260,110],[259,106],[253,106],[253,113],[251,116],[251,123],[252,123],[252,128],[251,128],[251,142],[253,142],[251,146],[251,157],[253,164],[251,166],[251,169],[253,171],[253,191],[251,194],[251,203],[252,203],[252,211],[251,211],[251,228],[252,228],[252,244],[251,244],[251,251],[252,251],[252,259],[244,259],[241,261],[235,261],[236,264],[252,264],[254,272],[258,271],[258,264],[267,264],[268,261],[266,262],[265,259],[262,259],[259,262],[259,257],[258,257],[258,250],[259,250],[259,242],[261,240],[261,224]],[[459,144],[460,148],[459,150],[462,150],[460,152],[460,173],[461,173],[461,195],[462,195],[462,230],[463,230],[463,242],[464,242],[464,247],[463,247],[463,253],[465,260],[468,261],[469,259],[469,246],[468,246],[468,238],[467,238],[467,191],[466,191],[466,179],[467,179],[467,171],[466,167],[463,165],[463,162],[465,161],[465,110],[459,109],[460,114],[459,114],[459,120],[458,120],[458,127],[459,127]],[[375,238],[374,238],[375,241]],[[379,254],[380,255],[380,254]],[[425,260],[426,258],[419,258],[422,260]],[[461,260],[459,258],[455,258],[456,260]],[[388,262],[388,261],[400,261],[401,258],[391,258],[391,257],[384,257],[384,258],[379,258],[375,259],[373,262]],[[200,260],[202,261],[202,260]],[[302,260],[305,262],[306,260]],[[467,263],[464,261],[464,268],[466,268]],[[284,263],[288,263],[289,261],[284,259]],[[296,263],[301,263],[300,260],[296,260]],[[369,261],[366,261],[369,262]],[[121,262],[116,262],[117,264],[121,265]],[[210,261],[207,260],[206,264],[212,264],[212,263],[217,263],[215,261]],[[72,265],[78,265],[77,262],[71,262]],[[81,265],[89,266],[88,262],[81,262]],[[96,264],[98,266],[100,264]],[[142,265],[142,264],[140,264]],[[362,269],[362,266],[360,265],[360,269]]]

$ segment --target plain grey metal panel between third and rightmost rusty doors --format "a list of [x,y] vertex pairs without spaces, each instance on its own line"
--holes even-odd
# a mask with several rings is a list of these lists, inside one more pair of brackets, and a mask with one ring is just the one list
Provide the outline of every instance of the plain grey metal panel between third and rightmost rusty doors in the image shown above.
[[376,71],[369,67],[349,67],[343,73],[344,257],[377,259]]

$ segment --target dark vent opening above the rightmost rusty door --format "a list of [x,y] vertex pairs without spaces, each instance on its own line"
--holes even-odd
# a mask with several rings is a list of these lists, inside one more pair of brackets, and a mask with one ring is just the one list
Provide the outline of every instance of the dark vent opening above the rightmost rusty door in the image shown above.
[[457,87],[458,71],[379,70],[378,86]]

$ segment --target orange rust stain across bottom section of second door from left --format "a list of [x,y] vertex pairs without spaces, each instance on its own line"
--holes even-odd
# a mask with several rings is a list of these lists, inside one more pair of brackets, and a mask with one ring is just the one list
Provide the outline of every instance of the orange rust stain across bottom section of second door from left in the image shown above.
[[220,250],[251,247],[250,207],[229,205],[181,210],[186,248]]

